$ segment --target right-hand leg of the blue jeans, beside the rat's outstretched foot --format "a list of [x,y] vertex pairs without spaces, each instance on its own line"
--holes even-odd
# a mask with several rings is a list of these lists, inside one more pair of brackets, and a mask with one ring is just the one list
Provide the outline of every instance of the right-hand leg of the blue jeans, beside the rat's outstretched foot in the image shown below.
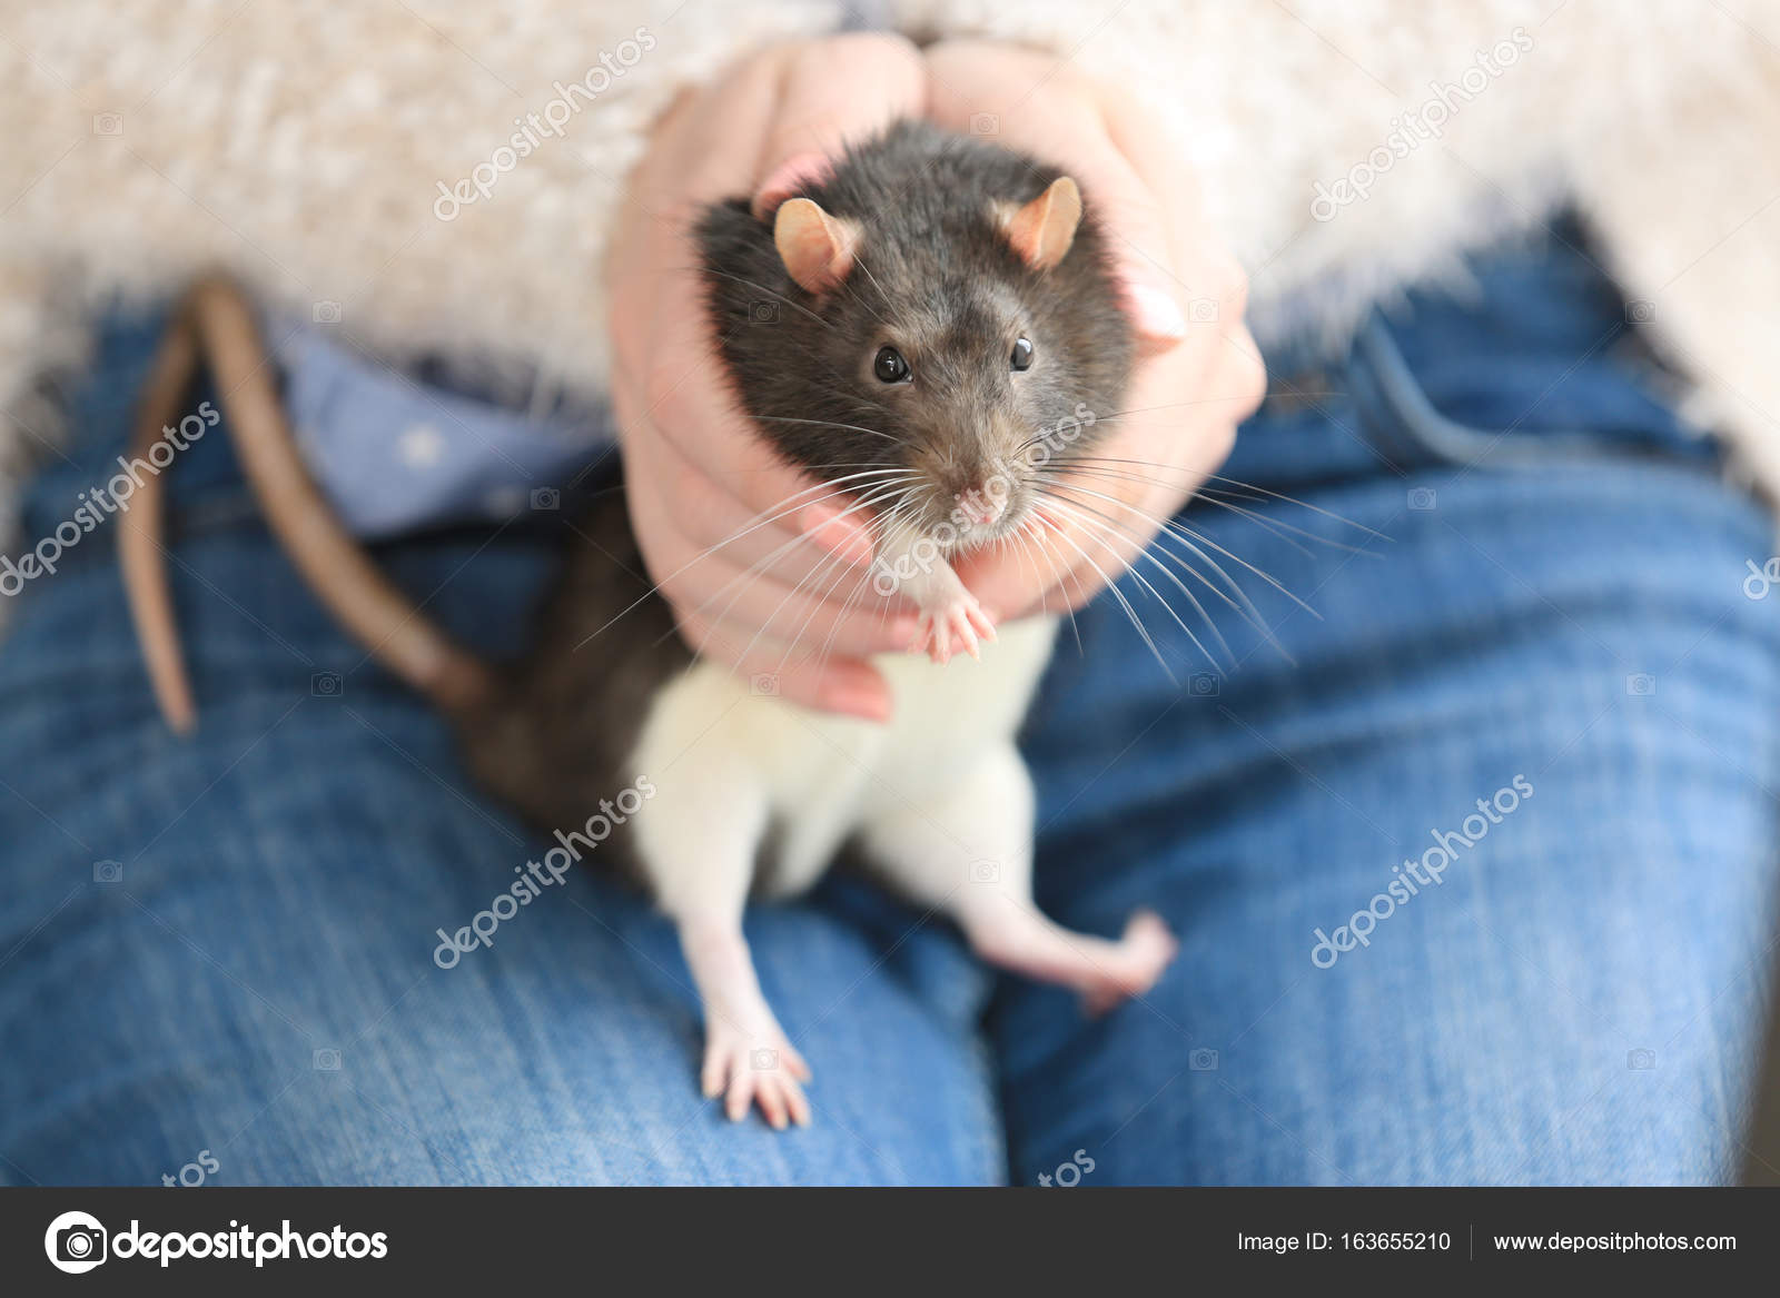
[[[1255,502],[1276,525],[1390,538],[1189,511],[1321,614],[1223,561],[1296,662],[1223,618],[1241,666],[1180,689],[1104,604],[1064,637],[1029,732],[1040,897],[1102,931],[1159,903],[1182,956],[1100,1024],[1004,988],[1020,1179],[1079,1148],[1107,1182],[1736,1173],[1780,778],[1780,602],[1741,582],[1773,527],[1570,244],[1276,369],[1225,475],[1305,502]],[[1435,835],[1452,865],[1396,905]],[[1369,906],[1367,945],[1317,951]]]

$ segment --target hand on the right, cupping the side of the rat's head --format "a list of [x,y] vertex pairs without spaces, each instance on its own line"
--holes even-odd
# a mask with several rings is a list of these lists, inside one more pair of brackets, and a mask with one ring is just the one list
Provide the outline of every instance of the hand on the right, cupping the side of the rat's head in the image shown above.
[[[1230,452],[1266,369],[1242,322],[1248,280],[1200,205],[1178,146],[1134,100],[1018,46],[951,41],[926,52],[927,116],[1056,164],[1098,212],[1139,335],[1123,411],[1054,488],[1043,554],[956,561],[997,618],[1077,609],[1161,532]],[[1072,461],[1075,456],[1072,454]],[[1038,543],[1040,532],[1029,534]]]

